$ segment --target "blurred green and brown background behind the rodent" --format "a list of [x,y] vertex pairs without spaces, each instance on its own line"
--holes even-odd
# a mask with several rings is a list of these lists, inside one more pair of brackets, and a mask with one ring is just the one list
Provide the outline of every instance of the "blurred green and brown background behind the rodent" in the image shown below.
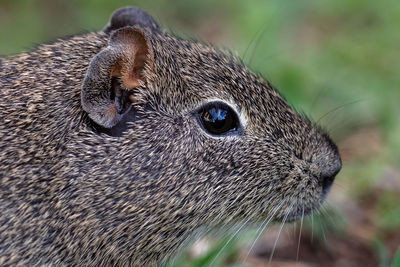
[[[400,1],[1,0],[0,55],[100,30],[126,5],[232,50],[339,144],[343,170],[323,212],[304,222],[299,256],[297,223],[270,266],[389,266],[400,245]],[[257,231],[230,236],[200,240],[174,266],[268,264],[276,226],[249,256]]]

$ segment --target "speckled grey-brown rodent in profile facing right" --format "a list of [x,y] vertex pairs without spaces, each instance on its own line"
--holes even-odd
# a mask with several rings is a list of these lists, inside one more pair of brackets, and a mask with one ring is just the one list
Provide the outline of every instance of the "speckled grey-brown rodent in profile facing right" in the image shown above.
[[151,266],[323,202],[336,145],[240,60],[141,9],[0,62],[0,265]]

